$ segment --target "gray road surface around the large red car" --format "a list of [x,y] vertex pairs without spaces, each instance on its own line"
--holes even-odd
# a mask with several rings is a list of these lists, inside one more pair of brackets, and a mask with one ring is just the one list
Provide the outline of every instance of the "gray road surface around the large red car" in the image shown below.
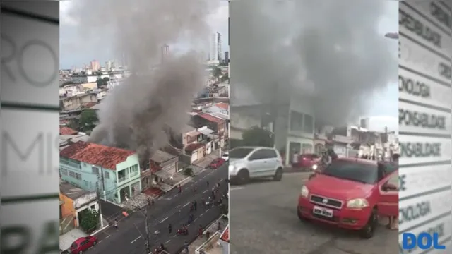
[[383,226],[369,240],[350,231],[313,222],[296,213],[309,173],[285,174],[281,182],[256,181],[230,188],[231,254],[398,253],[398,231]]

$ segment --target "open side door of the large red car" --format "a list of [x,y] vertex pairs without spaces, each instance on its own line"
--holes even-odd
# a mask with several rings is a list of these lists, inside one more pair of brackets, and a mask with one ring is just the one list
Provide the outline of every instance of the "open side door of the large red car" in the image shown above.
[[386,176],[379,183],[380,216],[398,216],[398,170]]

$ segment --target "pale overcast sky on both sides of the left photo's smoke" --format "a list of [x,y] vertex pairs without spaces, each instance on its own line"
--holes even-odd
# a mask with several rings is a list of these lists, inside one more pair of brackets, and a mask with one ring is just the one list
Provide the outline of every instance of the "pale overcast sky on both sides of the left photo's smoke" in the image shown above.
[[[60,1],[60,68],[72,68],[72,66],[82,67],[83,64],[88,64],[93,60],[100,61],[100,64],[103,66],[105,61],[114,59],[114,56],[110,52],[111,47],[109,47],[109,42],[105,41],[105,44],[99,47],[99,45],[90,44],[90,38],[78,36],[78,24],[69,15],[70,8],[71,1]],[[212,13],[208,18],[208,23],[212,31],[218,31],[222,35],[223,52],[229,51],[227,45],[228,16],[229,8],[227,1],[221,1],[215,13]],[[83,49],[78,46],[80,44],[84,44]]]

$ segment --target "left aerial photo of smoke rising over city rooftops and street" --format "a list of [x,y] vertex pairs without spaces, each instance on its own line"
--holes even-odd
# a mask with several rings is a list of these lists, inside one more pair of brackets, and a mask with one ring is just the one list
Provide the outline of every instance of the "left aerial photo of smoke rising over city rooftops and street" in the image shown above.
[[227,1],[61,1],[61,253],[229,245]]

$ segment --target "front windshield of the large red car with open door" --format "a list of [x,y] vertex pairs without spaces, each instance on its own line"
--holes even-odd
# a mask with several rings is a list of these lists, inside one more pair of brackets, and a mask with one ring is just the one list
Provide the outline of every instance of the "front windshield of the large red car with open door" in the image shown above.
[[331,163],[322,174],[338,179],[356,181],[359,183],[374,184],[378,179],[376,164],[364,164],[338,160]]

